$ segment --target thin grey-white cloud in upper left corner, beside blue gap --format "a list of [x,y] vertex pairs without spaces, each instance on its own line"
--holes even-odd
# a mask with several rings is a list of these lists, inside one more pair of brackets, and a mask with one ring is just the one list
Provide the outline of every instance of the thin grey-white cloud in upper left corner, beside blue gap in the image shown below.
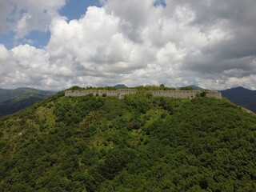
[[2,0],[0,33],[13,30],[15,38],[23,38],[32,30],[48,30],[66,0]]

